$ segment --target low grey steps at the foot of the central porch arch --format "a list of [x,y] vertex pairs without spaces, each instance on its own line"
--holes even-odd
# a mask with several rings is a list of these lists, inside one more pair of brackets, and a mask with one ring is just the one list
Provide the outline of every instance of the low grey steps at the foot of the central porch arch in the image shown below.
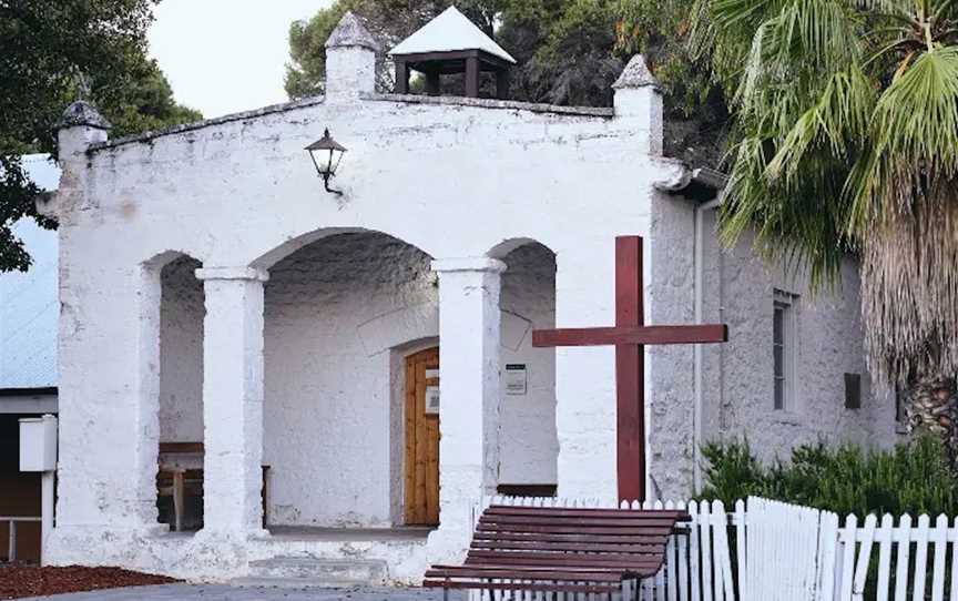
[[317,559],[275,557],[249,562],[246,578],[235,579],[240,587],[350,588],[375,587],[386,582],[386,562],[377,559]]

